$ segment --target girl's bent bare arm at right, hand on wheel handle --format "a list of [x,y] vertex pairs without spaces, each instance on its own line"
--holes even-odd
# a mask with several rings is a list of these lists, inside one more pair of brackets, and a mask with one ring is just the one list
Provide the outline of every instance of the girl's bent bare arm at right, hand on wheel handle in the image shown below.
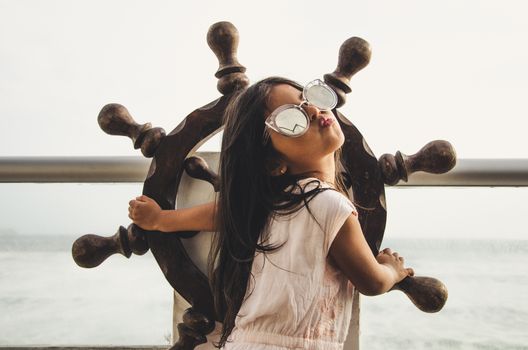
[[403,266],[403,258],[388,248],[377,257],[372,255],[354,214],[348,217],[337,233],[329,255],[364,295],[383,294],[405,277],[414,275],[412,269]]

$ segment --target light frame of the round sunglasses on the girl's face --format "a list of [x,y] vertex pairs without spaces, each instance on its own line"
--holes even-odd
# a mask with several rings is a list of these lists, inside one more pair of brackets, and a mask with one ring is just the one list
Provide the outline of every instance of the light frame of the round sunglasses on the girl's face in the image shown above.
[[[331,105],[331,107],[320,107],[320,106],[317,106],[316,104],[314,103],[311,103],[310,100],[308,100],[306,98],[306,92],[308,91],[308,89],[310,89],[311,87],[313,86],[323,86],[325,87],[331,94],[332,96],[334,97],[334,102],[333,104]],[[271,112],[271,114],[266,118],[266,120],[264,121],[264,124],[266,124],[267,127],[269,127],[270,129],[272,129],[273,131],[276,131],[278,132],[279,134],[281,135],[284,135],[284,136],[288,136],[288,137],[299,137],[299,136],[302,136],[304,135],[307,131],[308,131],[308,128],[310,127],[310,117],[308,116],[308,114],[306,114],[306,111],[302,108],[302,106],[304,104],[311,104],[313,106],[316,106],[317,108],[319,108],[321,111],[330,111],[332,109],[335,108],[335,106],[337,105],[337,94],[335,93],[335,91],[330,87],[328,86],[327,84],[325,84],[324,81],[320,80],[320,79],[315,79],[315,80],[312,80],[311,82],[309,82],[308,84],[306,84],[306,86],[303,88],[303,91],[302,91],[302,97],[303,97],[303,100],[301,101],[300,104],[298,105],[295,105],[295,104],[285,104],[285,105],[282,105],[278,108],[276,108],[273,112]],[[307,124],[307,127],[299,134],[288,134],[284,131],[282,131],[278,126],[277,126],[277,123],[275,122],[277,116],[287,110],[287,109],[297,109],[299,110],[303,115],[304,117],[306,118],[306,124]],[[269,131],[265,131],[264,132],[264,142],[267,141],[269,137]]]

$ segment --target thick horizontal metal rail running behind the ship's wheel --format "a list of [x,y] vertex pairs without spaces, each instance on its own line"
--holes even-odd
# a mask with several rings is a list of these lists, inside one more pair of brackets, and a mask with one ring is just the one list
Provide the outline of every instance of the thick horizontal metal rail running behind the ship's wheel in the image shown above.
[[[204,156],[206,153],[198,152]],[[0,157],[0,182],[143,182],[141,157]],[[528,159],[458,159],[446,174],[418,171],[397,186],[528,186]]]

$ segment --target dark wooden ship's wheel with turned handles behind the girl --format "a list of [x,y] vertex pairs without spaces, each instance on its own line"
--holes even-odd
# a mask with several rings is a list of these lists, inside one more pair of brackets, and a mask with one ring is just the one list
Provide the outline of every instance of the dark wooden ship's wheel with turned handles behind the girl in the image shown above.
[[[156,200],[162,209],[175,208],[184,171],[192,178],[209,182],[218,191],[218,176],[193,153],[222,129],[226,106],[235,92],[249,84],[246,69],[236,57],[238,31],[231,23],[213,24],[207,33],[207,43],[220,63],[215,76],[222,96],[191,112],[168,135],[150,123],[136,123],[119,104],[104,106],[98,116],[99,125],[106,133],[130,137],[135,149],[140,148],[145,157],[152,158],[143,194]],[[369,44],[361,38],[352,37],[341,45],[337,68],[324,75],[325,82],[338,95],[336,108],[345,103],[346,94],[351,92],[351,77],[369,63],[370,55]],[[445,173],[455,166],[455,151],[449,142],[437,140],[411,156],[398,151],[396,155],[384,154],[378,159],[354,124],[337,109],[333,112],[345,135],[342,161],[347,186],[360,205],[357,209],[362,230],[372,253],[377,255],[387,217],[385,185],[407,181],[415,171]],[[127,228],[120,226],[111,237],[80,237],[73,244],[72,255],[79,266],[92,268],[115,253],[128,258],[132,253],[142,255],[150,249],[167,281],[191,305],[183,315],[183,322],[178,324],[180,338],[171,349],[194,349],[207,341],[206,335],[213,331],[215,321],[223,319],[223,315],[215,314],[206,274],[196,266],[182,244],[197,233],[146,233],[130,224]],[[402,290],[425,312],[439,311],[447,299],[445,286],[430,277],[407,277],[393,289]]]

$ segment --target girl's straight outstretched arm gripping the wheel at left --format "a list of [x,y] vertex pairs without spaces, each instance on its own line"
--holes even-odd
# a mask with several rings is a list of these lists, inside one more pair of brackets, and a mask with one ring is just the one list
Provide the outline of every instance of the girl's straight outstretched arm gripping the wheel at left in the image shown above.
[[215,230],[215,202],[185,209],[162,210],[156,201],[143,195],[128,204],[128,217],[144,230],[161,232]]

